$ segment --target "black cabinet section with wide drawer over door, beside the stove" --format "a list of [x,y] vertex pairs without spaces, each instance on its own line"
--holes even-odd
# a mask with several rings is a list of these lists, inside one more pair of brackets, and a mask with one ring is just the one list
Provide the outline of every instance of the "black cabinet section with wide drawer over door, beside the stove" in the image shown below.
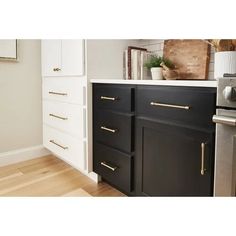
[[216,89],[137,86],[136,194],[212,196]]

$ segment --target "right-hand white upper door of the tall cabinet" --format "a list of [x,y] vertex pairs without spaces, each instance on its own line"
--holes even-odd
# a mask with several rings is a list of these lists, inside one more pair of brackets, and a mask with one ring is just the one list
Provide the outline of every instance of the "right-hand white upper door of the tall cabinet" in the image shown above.
[[62,40],[62,73],[65,76],[84,74],[84,40]]

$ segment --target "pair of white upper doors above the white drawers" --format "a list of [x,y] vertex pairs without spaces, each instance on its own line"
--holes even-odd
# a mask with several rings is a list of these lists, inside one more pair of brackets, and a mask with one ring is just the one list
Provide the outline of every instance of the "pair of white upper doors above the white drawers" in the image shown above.
[[42,40],[43,76],[82,76],[84,40]]

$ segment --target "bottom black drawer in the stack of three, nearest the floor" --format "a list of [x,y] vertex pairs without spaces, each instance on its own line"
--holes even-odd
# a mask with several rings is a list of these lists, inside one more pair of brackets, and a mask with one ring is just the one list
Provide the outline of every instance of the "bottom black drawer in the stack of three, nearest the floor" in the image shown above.
[[125,192],[132,191],[132,157],[104,145],[94,144],[93,171]]

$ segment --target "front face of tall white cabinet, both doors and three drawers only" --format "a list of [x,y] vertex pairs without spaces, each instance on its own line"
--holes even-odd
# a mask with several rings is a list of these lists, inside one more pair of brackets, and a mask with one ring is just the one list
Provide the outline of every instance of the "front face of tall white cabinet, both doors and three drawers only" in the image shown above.
[[87,171],[84,40],[42,40],[43,144]]

